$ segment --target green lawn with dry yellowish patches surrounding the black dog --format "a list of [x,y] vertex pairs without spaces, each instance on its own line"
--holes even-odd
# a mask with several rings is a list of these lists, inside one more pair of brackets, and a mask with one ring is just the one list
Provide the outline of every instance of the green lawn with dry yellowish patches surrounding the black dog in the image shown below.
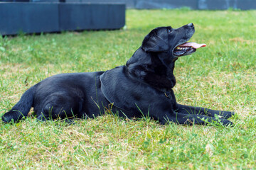
[[114,31],[0,38],[0,115],[53,74],[125,64],[158,26],[194,23],[206,43],[176,62],[178,103],[235,111],[233,128],[93,120],[0,123],[0,169],[256,169],[256,11],[127,11]]

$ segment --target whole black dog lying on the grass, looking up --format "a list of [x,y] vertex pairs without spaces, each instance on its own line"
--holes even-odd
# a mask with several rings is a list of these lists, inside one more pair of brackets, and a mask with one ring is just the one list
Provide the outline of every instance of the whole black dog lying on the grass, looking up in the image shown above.
[[172,90],[176,84],[174,62],[202,46],[187,42],[194,32],[193,23],[178,29],[155,28],[124,66],[106,72],[48,77],[28,89],[11,111],[2,116],[2,120],[5,123],[17,122],[33,107],[38,120],[94,118],[111,109],[127,118],[148,115],[161,124],[169,121],[180,124],[220,121],[223,125],[232,125],[227,120],[234,114],[232,112],[176,103]]

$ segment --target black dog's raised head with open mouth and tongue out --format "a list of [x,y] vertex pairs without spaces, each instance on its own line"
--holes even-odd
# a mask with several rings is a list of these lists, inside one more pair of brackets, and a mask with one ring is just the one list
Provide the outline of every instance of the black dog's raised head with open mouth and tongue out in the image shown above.
[[199,47],[205,44],[188,42],[195,33],[193,23],[188,23],[181,28],[159,27],[151,30],[142,42],[142,49],[146,52],[169,52],[176,60],[183,55],[191,55]]

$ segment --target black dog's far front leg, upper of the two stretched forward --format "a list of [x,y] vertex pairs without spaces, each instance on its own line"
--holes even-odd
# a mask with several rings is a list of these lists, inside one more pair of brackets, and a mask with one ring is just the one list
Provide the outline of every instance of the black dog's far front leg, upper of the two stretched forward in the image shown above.
[[183,114],[191,114],[191,115],[208,115],[210,117],[215,117],[215,115],[220,116],[220,118],[228,119],[235,115],[235,113],[230,111],[215,111],[209,108],[201,108],[201,107],[193,107],[193,106],[185,106],[181,104],[177,104],[178,113]]

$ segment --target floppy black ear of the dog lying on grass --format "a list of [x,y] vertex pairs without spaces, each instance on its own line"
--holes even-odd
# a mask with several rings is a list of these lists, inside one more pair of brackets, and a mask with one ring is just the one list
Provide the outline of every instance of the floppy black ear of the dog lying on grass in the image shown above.
[[156,31],[156,29],[151,30],[151,32],[146,35],[142,42],[142,48],[146,52],[164,52],[169,49],[167,40],[164,40],[157,35]]

